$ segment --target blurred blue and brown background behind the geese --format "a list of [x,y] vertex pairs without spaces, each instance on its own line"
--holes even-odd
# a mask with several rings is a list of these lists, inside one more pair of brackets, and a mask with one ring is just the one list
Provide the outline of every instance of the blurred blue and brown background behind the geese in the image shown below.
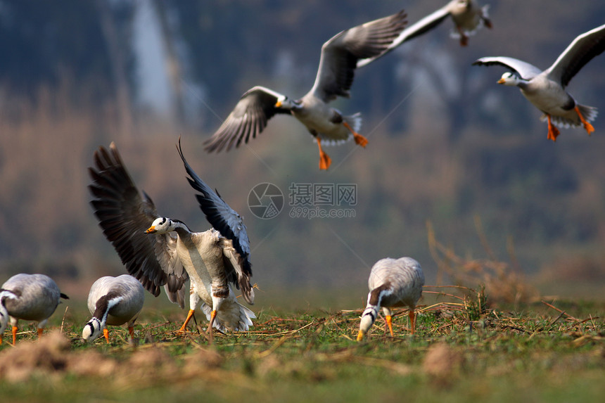
[[[174,148],[245,217],[257,305],[363,307],[382,257],[421,262],[427,284],[488,283],[516,302],[537,295],[602,298],[605,289],[605,120],[561,129],[496,84],[512,56],[547,68],[571,41],[605,22],[605,3],[491,1],[493,29],[463,48],[453,24],[357,71],[362,149],[317,146],[302,124],[274,117],[229,153],[203,141],[241,94],[263,85],[294,98],[314,82],[321,45],[340,30],[405,8],[410,23],[445,0],[0,0],[0,283],[53,276],[84,298],[92,281],[125,269],[89,205],[87,167],[115,141],[160,214],[208,222]],[[605,56],[568,91],[605,110]],[[255,217],[248,193],[269,182],[286,204]],[[356,184],[354,217],[291,217],[292,184]],[[508,288],[507,288],[508,287]]]

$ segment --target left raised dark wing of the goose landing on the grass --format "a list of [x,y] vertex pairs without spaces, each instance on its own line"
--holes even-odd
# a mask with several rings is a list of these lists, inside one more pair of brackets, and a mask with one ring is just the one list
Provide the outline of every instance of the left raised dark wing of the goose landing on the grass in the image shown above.
[[110,150],[99,147],[94,153],[95,167],[89,168],[94,199],[91,205],[103,234],[120,256],[129,274],[150,293],[160,295],[165,286],[168,298],[184,307],[184,271],[170,234],[147,235],[145,230],[158,217],[153,201],[132,181],[115,143]]

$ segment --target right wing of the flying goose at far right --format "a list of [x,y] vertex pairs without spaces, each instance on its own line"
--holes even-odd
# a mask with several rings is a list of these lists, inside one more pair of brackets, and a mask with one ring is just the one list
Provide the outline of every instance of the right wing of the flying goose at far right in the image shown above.
[[567,49],[548,68],[548,75],[561,82],[563,87],[567,87],[573,76],[594,56],[599,56],[603,51],[605,51],[605,25],[573,39]]

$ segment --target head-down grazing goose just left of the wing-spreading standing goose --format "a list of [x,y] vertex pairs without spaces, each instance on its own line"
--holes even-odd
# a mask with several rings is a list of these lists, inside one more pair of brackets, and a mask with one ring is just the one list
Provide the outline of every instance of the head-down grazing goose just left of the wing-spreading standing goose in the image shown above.
[[82,330],[82,339],[91,342],[103,331],[109,343],[107,325],[120,326],[128,322],[130,338],[134,337],[134,321],[143,309],[145,291],[141,283],[129,274],[104,276],[95,281],[88,294],[88,310],[92,319]]

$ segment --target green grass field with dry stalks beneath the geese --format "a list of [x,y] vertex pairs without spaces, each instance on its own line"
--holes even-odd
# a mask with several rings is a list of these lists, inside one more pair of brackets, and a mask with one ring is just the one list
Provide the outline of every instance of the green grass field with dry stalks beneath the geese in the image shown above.
[[87,312],[63,314],[60,307],[39,342],[31,343],[34,327],[22,323],[17,347],[0,345],[0,397],[597,402],[605,395],[603,303],[549,301],[507,309],[489,307],[481,293],[470,295],[466,301],[425,297],[415,335],[400,310],[394,338],[378,319],[362,343],[355,341],[361,311],[265,308],[250,332],[216,334],[210,345],[205,320],[182,335],[177,329],[184,311],[166,308],[144,310],[133,343],[120,327],[110,328],[111,343],[84,345],[78,338]]

